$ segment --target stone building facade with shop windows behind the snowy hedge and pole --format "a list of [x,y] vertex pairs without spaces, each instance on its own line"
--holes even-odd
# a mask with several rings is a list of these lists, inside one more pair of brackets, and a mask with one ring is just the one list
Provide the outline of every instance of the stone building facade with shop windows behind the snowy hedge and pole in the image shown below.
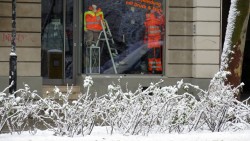
[[[9,83],[11,2],[0,0],[2,89]],[[136,90],[139,84],[147,87],[160,79],[164,80],[162,85],[183,79],[206,88],[219,70],[222,3],[222,0],[17,0],[18,88],[24,83],[41,93],[47,85],[73,84],[82,88],[87,75],[92,76],[93,90],[100,94],[120,78],[119,83],[130,90]],[[106,25],[89,34],[92,30],[86,21],[92,5],[102,12]],[[150,22],[150,18],[158,22]]]

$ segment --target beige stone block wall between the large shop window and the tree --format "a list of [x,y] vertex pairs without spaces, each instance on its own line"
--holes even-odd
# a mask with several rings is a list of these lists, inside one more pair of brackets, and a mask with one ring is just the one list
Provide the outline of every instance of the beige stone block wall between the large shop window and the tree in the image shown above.
[[219,70],[221,0],[169,0],[167,76],[211,78]]

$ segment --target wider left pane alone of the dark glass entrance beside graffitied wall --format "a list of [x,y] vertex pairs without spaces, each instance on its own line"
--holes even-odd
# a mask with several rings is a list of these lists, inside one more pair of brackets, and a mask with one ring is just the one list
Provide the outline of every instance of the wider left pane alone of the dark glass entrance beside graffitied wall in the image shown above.
[[42,0],[42,76],[63,78],[63,3]]

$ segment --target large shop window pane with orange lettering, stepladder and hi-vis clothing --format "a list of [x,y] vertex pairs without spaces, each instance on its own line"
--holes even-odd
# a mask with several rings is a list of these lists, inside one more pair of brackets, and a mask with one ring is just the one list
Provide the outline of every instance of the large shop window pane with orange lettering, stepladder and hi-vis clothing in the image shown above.
[[162,74],[166,0],[84,0],[83,73]]

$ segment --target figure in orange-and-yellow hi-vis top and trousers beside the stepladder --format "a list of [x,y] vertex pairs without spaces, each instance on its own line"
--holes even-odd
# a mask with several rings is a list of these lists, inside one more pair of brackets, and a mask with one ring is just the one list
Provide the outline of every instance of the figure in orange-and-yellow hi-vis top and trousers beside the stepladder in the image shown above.
[[97,9],[95,4],[92,4],[89,10],[84,12],[85,43],[92,44],[98,40],[102,31],[101,20],[103,19],[104,15],[101,8]]

